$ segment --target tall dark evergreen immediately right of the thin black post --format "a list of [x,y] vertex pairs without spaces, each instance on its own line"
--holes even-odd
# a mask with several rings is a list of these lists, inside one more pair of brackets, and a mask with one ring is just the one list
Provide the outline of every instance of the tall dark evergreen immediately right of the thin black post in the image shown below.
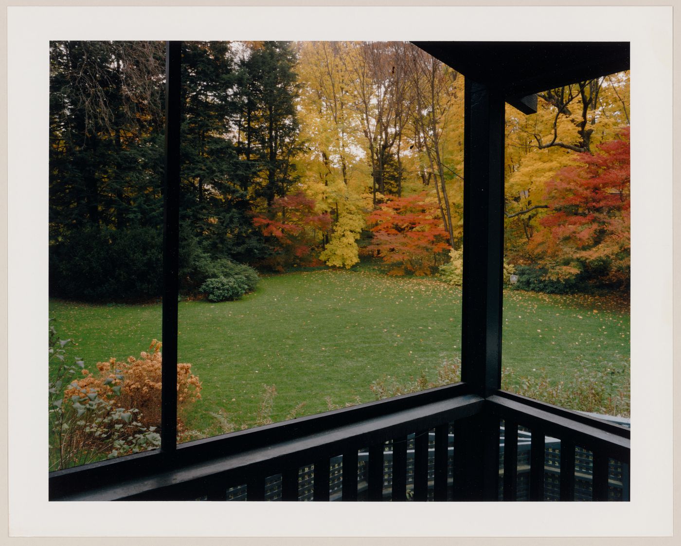
[[264,247],[251,219],[252,178],[234,145],[234,57],[227,42],[184,44],[181,216],[200,256],[252,262]]

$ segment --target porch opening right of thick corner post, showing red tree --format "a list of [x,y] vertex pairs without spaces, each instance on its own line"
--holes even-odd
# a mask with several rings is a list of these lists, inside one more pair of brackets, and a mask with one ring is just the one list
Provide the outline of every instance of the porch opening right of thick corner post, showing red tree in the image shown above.
[[507,107],[504,389],[629,416],[629,72]]

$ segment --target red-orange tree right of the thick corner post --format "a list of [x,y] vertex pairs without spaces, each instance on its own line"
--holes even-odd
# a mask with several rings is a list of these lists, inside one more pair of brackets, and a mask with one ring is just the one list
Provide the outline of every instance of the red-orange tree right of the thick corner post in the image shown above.
[[629,283],[629,132],[582,153],[580,166],[559,170],[546,183],[550,213],[530,241],[539,264],[553,279],[585,274],[590,279]]

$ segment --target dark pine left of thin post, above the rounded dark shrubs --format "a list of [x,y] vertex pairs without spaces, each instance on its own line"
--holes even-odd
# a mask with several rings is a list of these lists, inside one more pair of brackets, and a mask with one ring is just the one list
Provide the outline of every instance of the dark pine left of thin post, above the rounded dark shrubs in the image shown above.
[[159,207],[131,209],[160,189],[162,74],[159,43],[50,44],[53,237],[159,222]]

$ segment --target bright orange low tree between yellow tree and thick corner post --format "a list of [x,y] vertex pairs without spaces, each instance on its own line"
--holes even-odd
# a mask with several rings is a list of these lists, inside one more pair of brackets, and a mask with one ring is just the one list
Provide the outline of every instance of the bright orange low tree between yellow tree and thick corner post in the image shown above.
[[373,232],[368,249],[396,264],[392,275],[405,271],[430,275],[450,248],[437,203],[428,200],[425,192],[381,204],[368,215],[367,224]]

